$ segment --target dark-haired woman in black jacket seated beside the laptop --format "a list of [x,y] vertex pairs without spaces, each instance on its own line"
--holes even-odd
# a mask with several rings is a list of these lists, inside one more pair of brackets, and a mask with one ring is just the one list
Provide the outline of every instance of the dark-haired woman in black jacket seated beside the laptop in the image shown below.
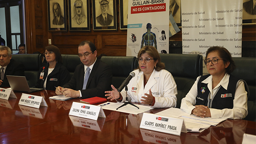
[[62,65],[62,55],[57,46],[46,46],[44,55],[47,64],[38,72],[36,88],[55,91],[55,86],[62,86],[70,80],[70,74]]

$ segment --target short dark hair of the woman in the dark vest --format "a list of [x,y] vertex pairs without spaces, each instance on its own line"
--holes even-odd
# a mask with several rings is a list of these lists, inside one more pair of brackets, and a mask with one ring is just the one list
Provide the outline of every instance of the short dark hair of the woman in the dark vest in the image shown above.
[[226,64],[227,61],[230,62],[229,66],[226,68],[226,73],[230,74],[235,70],[235,62],[232,60],[231,54],[226,48],[219,46],[213,46],[211,48],[208,48],[205,58],[207,58],[210,52],[218,52],[219,57],[223,60],[224,64]]

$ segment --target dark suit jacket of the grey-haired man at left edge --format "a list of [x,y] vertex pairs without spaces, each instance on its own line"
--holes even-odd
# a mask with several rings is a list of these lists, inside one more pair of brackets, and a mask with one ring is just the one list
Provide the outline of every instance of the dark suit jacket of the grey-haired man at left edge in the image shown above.
[[25,76],[24,71],[25,71],[25,67],[22,63],[11,59],[10,63],[6,67],[6,70],[4,73],[4,80],[2,80],[3,82],[0,85],[0,87],[10,87],[10,84],[7,80],[6,75]]

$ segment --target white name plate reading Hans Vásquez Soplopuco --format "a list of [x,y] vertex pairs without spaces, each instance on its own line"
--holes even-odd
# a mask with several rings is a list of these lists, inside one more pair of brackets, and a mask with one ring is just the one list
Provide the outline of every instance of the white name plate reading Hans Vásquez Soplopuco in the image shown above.
[[32,108],[39,108],[40,106],[46,106],[46,101],[44,100],[44,97],[42,96],[34,96],[30,94],[21,94],[21,99],[19,100],[19,105],[23,106],[29,106]]

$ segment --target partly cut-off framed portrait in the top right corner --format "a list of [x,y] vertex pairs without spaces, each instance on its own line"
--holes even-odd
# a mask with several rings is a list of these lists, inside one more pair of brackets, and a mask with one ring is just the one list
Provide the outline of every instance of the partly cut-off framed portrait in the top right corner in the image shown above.
[[256,25],[256,6],[253,0],[243,0],[243,25]]

